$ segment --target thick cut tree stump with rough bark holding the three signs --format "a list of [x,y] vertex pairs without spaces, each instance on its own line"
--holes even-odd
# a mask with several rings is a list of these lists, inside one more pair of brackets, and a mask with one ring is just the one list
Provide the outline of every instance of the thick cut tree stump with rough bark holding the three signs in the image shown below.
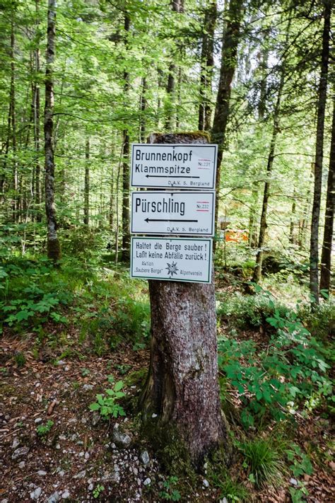
[[[152,134],[151,143],[206,144],[194,134]],[[192,461],[227,442],[218,390],[214,284],[149,281],[151,362],[144,420],[175,427]]]

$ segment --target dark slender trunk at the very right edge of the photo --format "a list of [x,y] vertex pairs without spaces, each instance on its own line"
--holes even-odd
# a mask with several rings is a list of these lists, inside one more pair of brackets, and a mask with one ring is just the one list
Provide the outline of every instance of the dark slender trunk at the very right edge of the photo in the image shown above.
[[[335,92],[335,89],[334,89]],[[334,206],[335,206],[335,100],[333,98],[333,122],[331,125],[331,144],[329,173],[327,183],[326,214],[324,219],[324,241],[321,255],[320,290],[329,295],[331,286],[331,246],[334,231]]]

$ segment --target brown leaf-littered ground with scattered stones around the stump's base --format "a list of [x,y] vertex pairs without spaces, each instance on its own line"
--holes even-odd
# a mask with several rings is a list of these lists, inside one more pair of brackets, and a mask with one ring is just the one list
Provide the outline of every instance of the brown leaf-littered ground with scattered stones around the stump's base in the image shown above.
[[[254,335],[259,337],[259,333]],[[31,335],[23,338],[5,334],[1,340],[0,502],[165,501],[167,498],[159,495],[165,475],[151,447],[136,436],[128,415],[121,421],[118,418],[104,422],[88,409],[95,394],[107,386],[106,376],[110,372],[116,379],[126,381],[127,374],[119,374],[117,369],[129,372],[131,369],[131,376],[143,374],[148,352],[122,347],[106,357],[91,355],[84,361],[67,357],[57,362],[59,349],[53,354],[48,346],[42,347],[36,359],[30,350],[32,345]],[[21,367],[14,358],[18,352],[26,357]],[[127,393],[135,396],[138,391],[134,383]],[[49,432],[38,435],[37,427],[50,420],[53,424]],[[120,449],[114,444],[115,422],[121,423],[131,437],[129,446]],[[309,450],[315,446],[326,450],[329,429],[329,422],[321,417],[298,420],[295,442]],[[314,468],[312,475],[304,476],[309,492],[307,501],[334,502],[331,469],[334,470],[335,463]],[[247,481],[239,460],[233,471],[245,479],[250,501],[291,501],[288,487],[294,485],[294,479],[288,477],[283,487],[276,490],[256,491]],[[225,501],[223,495],[220,499],[216,487],[205,487],[204,480],[206,475],[199,475],[195,485],[194,480],[184,480],[189,492],[181,501]]]

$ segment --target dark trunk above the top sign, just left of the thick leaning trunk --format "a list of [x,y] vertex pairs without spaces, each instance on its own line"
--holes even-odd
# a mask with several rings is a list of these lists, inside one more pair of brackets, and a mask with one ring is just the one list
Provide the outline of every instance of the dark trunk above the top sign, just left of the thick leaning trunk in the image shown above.
[[200,74],[200,103],[199,103],[199,131],[211,129],[211,91],[214,66],[214,31],[218,11],[216,0],[211,0],[206,6],[204,18],[204,35],[201,46],[201,74]]

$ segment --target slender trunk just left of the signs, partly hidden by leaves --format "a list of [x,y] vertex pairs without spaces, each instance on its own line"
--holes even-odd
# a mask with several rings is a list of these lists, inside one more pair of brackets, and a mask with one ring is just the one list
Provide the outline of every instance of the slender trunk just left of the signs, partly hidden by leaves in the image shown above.
[[[130,30],[130,17],[128,11],[124,11],[125,45],[128,47],[128,33]],[[124,71],[124,97],[129,98],[129,73]],[[126,104],[128,105],[128,103]],[[122,260],[130,258],[130,169],[129,169],[129,132],[123,131],[123,172],[122,172]]]

